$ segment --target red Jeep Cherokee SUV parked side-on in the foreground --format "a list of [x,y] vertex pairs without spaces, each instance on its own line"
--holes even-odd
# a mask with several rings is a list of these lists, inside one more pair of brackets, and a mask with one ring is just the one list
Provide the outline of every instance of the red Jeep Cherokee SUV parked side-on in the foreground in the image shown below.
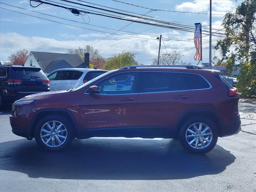
[[238,92],[216,70],[197,66],[127,66],[67,91],[13,104],[12,132],[47,150],[74,138],[179,138],[206,153],[218,137],[240,131]]

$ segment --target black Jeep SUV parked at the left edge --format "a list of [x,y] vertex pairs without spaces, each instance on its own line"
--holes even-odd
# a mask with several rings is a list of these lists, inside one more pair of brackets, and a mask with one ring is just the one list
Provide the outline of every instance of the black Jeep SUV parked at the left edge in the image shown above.
[[24,96],[47,91],[49,80],[40,68],[0,66],[0,108]]

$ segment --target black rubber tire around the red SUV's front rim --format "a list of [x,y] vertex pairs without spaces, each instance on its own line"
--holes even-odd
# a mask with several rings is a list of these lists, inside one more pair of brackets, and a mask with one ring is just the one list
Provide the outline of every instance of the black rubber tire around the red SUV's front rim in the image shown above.
[[[41,128],[47,122],[51,122],[51,121],[60,122],[66,128],[66,132],[65,132],[66,133],[66,140],[60,146],[55,146],[55,147],[47,146],[42,141],[42,139],[41,139]],[[40,146],[41,148],[43,148],[45,150],[48,150],[48,151],[60,151],[60,150],[63,150],[64,148],[68,147],[71,144],[72,140],[74,139],[73,127],[74,126],[73,126],[72,122],[70,122],[70,120],[68,118],[65,118],[63,116],[59,116],[59,115],[45,116],[44,118],[42,118],[38,122],[38,124],[36,125],[36,128],[35,128],[35,132],[34,132],[35,135],[34,136],[35,136],[35,139],[36,139],[36,143],[38,144],[38,146]],[[55,138],[54,138],[54,140],[55,140]]]

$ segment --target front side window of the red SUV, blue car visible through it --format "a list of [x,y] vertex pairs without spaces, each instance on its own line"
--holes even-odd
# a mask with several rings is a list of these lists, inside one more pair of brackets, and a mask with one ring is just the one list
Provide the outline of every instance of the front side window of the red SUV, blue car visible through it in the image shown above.
[[138,73],[121,73],[98,82],[100,94],[131,94],[137,92]]

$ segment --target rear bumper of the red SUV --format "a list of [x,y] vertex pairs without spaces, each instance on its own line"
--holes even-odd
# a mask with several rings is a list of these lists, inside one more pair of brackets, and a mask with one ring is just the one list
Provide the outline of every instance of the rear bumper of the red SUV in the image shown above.
[[240,114],[236,115],[230,124],[224,124],[220,137],[226,137],[234,134],[238,134],[241,130]]

